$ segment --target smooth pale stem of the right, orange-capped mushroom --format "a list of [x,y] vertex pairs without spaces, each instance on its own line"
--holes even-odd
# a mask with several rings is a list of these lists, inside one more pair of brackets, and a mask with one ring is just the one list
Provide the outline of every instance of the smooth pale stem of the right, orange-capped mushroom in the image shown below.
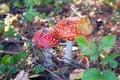
[[72,60],[72,46],[73,46],[73,42],[72,41],[69,41],[67,43],[67,46],[66,46],[66,52],[65,52],[65,56],[64,56],[64,61],[65,63],[68,63],[70,64],[71,63],[71,60]]

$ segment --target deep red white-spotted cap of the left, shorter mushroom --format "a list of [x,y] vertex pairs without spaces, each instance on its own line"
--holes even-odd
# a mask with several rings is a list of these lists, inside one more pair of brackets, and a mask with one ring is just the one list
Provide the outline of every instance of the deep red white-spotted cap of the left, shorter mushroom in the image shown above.
[[33,43],[41,49],[51,48],[59,44],[59,37],[55,30],[39,30],[33,37]]

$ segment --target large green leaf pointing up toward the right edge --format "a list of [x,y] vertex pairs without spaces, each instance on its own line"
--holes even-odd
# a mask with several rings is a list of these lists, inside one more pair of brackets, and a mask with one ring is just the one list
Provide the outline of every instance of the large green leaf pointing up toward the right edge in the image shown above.
[[106,49],[110,49],[115,45],[116,36],[115,35],[106,36],[102,38],[101,42],[102,43],[100,44],[98,48],[99,52],[102,50],[106,51]]

